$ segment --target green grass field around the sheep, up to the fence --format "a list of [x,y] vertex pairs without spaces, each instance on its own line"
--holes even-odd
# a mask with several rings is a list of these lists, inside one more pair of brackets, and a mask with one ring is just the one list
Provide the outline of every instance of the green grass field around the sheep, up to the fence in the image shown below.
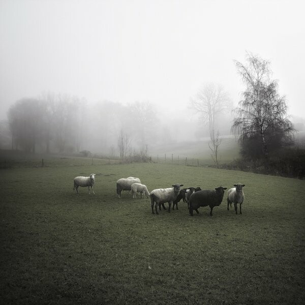
[[[92,172],[96,194],[74,194],[73,177]],[[153,215],[149,199],[116,197],[116,180],[127,176],[140,177],[149,191],[242,182],[243,214],[227,211],[224,198],[212,217],[208,207],[190,217],[182,201]],[[0,170],[0,198],[3,304],[305,302],[302,180],[56,159]]]

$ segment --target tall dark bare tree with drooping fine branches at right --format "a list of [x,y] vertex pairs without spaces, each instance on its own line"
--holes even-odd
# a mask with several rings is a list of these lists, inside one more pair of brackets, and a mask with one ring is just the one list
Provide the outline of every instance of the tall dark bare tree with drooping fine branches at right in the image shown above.
[[283,141],[294,129],[287,117],[285,96],[278,94],[278,83],[270,80],[270,63],[248,53],[248,65],[235,61],[238,73],[246,84],[239,107],[234,109],[232,131],[240,134],[240,140],[260,140],[261,151],[268,157],[273,139]]

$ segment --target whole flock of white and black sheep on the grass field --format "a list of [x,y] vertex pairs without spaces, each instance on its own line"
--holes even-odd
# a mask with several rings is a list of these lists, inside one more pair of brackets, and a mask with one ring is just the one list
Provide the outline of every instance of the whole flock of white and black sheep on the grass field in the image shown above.
[[[88,191],[90,194],[90,188],[94,194],[93,186],[95,183],[96,174],[90,174],[88,177],[78,176],[74,178],[74,188],[73,191],[76,190],[78,193],[79,187],[88,187]],[[141,184],[141,180],[136,177],[128,177],[128,178],[120,178],[116,181],[116,194],[118,198],[120,198],[121,191],[130,191],[132,194],[132,198],[136,198],[136,194],[139,193],[143,195],[143,198],[146,196],[150,197],[151,202],[151,211],[153,214],[154,208],[156,214],[159,210],[161,210],[161,205],[163,209],[166,209],[164,203],[168,202],[168,211],[170,212],[171,205],[173,204],[173,209],[176,206],[178,209],[178,202],[182,199],[184,202],[188,203],[188,210],[190,215],[193,216],[193,211],[195,210],[197,214],[199,214],[198,208],[200,206],[209,206],[210,207],[210,216],[212,216],[212,210],[215,206],[219,206],[223,200],[225,190],[227,188],[218,187],[214,190],[201,190],[201,188],[185,188],[181,189],[184,185],[175,184],[172,185],[171,188],[167,189],[156,189],[151,191],[150,193],[147,190],[147,187]],[[229,210],[234,203],[235,212],[237,214],[237,204],[239,204],[239,214],[241,214],[241,204],[243,200],[245,200],[245,195],[243,194],[242,188],[245,187],[244,184],[235,184],[234,188],[228,190],[227,196],[227,209]]]

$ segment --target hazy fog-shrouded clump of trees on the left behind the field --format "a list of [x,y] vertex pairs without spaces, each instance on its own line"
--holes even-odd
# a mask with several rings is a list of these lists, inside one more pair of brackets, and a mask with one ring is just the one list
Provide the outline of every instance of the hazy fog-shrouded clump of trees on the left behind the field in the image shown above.
[[[149,102],[123,105],[104,101],[89,106],[84,99],[48,93],[17,101],[9,109],[8,122],[12,149],[35,153],[39,147],[46,153],[79,153],[92,147],[114,156],[121,137],[132,139],[130,144],[135,147],[154,141],[158,117]],[[124,158],[127,152],[119,154]]]

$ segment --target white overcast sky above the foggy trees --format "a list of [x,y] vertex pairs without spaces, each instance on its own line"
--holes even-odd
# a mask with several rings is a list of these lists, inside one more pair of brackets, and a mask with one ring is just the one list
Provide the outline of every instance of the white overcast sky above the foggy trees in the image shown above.
[[270,60],[290,114],[305,116],[304,12],[296,0],[0,0],[0,119],[43,92],[180,110],[206,82],[236,105],[246,51]]

